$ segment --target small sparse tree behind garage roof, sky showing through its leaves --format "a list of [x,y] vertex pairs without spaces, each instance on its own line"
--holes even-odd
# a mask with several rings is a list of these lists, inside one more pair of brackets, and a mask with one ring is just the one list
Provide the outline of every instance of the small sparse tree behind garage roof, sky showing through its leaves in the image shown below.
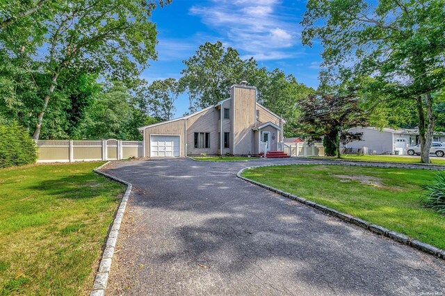
[[179,96],[179,83],[168,78],[155,80],[149,86],[149,101],[153,116],[161,120],[171,120],[176,110],[174,104]]

